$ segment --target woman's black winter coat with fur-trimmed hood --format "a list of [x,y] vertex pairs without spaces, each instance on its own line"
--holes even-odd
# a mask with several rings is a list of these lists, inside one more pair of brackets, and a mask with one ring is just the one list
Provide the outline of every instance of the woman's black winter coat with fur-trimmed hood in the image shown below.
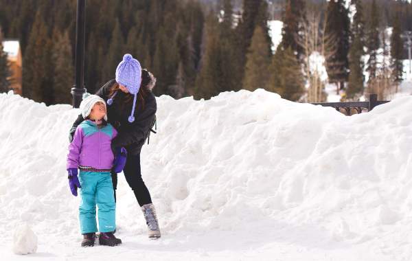
[[[104,86],[95,94],[99,95],[107,102],[110,98],[108,97],[110,89],[114,83],[115,79],[106,82],[106,84],[104,84]],[[137,100],[134,113],[135,121],[130,123],[128,122],[128,117],[132,111],[133,104],[130,106],[120,104],[119,100],[121,100],[120,96],[122,95],[130,94],[117,91],[117,95],[113,98],[113,104],[107,105],[107,120],[118,132],[117,137],[112,141],[112,148],[125,147],[129,154],[137,155],[140,153],[141,147],[145,143],[146,138],[150,133],[150,128],[155,121],[155,113],[157,111],[156,98],[155,95],[148,90],[147,95],[144,98],[144,106],[143,104],[139,104],[139,100]],[[73,134],[76,131],[77,126],[83,120],[84,119],[80,114],[77,120],[73,123],[69,134],[70,141],[73,139]]]

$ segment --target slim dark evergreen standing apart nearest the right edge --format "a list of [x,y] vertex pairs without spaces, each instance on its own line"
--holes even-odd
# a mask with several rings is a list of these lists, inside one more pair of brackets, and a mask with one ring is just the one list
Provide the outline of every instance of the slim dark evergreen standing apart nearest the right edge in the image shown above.
[[[398,84],[402,82],[403,74],[403,63],[402,63],[402,54],[403,54],[403,42],[401,35],[400,27],[400,17],[395,17],[395,23],[393,23],[393,30],[391,35],[391,69],[392,69],[392,78],[393,81]],[[396,90],[398,91],[398,90]]]

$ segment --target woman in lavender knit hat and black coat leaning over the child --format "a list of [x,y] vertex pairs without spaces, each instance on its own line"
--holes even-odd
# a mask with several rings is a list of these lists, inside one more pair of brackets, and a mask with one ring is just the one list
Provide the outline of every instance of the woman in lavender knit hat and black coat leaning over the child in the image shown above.
[[[149,238],[160,238],[155,206],[141,179],[140,168],[141,147],[155,122],[157,104],[152,88],[155,87],[156,79],[146,69],[142,70],[139,61],[130,54],[125,54],[122,62],[117,65],[115,76],[115,79],[106,82],[96,95],[107,102],[108,122],[118,132],[112,141],[112,148],[124,147],[128,152],[123,172],[146,218]],[[82,121],[83,117],[79,115],[71,128],[70,141]],[[111,174],[116,194],[117,174],[113,171]]]

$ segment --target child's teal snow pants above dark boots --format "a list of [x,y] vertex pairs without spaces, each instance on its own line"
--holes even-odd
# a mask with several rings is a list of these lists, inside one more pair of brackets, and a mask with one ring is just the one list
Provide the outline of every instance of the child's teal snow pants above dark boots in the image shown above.
[[79,207],[82,234],[98,231],[96,205],[98,205],[99,231],[111,232],[116,228],[116,203],[110,172],[80,170],[81,202]]

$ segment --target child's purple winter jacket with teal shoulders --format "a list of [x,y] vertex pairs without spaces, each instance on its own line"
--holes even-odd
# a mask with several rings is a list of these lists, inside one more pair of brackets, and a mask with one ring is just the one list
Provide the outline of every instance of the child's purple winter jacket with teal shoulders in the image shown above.
[[100,128],[91,120],[85,120],[77,128],[73,141],[69,145],[67,169],[79,166],[98,170],[110,170],[113,167],[111,140],[117,131],[111,124]]

